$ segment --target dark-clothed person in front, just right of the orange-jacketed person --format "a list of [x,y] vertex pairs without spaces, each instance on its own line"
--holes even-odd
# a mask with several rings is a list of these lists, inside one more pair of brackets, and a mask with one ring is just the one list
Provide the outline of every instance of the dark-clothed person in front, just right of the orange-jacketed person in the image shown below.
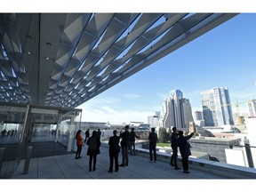
[[[96,170],[96,162],[97,162],[97,156],[100,154],[100,140],[97,137],[97,132],[92,132],[92,137],[90,137],[87,140],[88,150],[87,150],[87,156],[90,156],[89,158],[89,172]],[[93,170],[92,170],[92,160],[93,160]]]

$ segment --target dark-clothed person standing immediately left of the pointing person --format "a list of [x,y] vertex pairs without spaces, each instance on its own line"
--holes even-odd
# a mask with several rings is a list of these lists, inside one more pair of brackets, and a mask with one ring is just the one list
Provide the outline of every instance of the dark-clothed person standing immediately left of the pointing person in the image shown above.
[[178,139],[178,130],[176,127],[172,127],[172,136],[171,136],[171,148],[172,148],[172,156],[170,164],[174,166],[175,170],[180,170],[180,167],[177,164],[178,158],[178,147],[177,147],[177,139]]

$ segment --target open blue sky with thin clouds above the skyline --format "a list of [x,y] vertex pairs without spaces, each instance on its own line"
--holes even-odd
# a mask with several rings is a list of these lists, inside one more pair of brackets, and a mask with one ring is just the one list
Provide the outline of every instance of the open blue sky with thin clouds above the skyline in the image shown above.
[[[256,13],[241,13],[81,105],[83,121],[147,123],[179,89],[192,112],[200,92],[228,87],[232,103],[256,99]],[[235,105],[232,106],[236,111]],[[240,112],[246,111],[244,103]]]

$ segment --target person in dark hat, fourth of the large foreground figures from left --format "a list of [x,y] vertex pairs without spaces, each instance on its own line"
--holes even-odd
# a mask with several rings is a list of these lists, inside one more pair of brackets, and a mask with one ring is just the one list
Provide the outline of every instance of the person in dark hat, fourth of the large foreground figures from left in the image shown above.
[[129,156],[128,156],[128,148],[129,148],[129,142],[130,142],[130,136],[131,133],[129,132],[129,125],[125,125],[124,127],[125,131],[120,132],[120,138],[121,140],[121,148],[122,148],[122,164],[119,166],[128,166],[129,163]]

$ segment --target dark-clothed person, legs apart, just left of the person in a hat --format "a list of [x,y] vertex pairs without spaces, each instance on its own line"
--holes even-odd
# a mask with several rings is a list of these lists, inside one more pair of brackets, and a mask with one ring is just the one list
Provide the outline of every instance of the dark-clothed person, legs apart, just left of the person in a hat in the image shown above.
[[115,160],[115,171],[118,172],[119,170],[118,154],[120,152],[120,146],[119,146],[120,137],[118,137],[116,133],[117,131],[114,130],[113,136],[111,136],[108,140],[108,145],[109,145],[108,154],[109,154],[109,162],[110,162],[108,172],[113,172],[114,160]]

